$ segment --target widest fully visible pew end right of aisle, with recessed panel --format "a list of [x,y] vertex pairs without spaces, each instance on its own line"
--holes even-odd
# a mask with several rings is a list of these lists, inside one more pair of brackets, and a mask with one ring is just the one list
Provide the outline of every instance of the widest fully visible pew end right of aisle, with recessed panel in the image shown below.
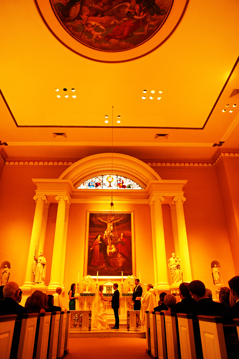
[[222,317],[198,315],[203,359],[227,359]]

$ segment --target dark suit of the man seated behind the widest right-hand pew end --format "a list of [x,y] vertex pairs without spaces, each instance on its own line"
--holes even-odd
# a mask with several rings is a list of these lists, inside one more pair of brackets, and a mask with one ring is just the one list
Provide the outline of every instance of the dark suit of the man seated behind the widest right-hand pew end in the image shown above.
[[197,315],[219,315],[222,316],[225,312],[225,306],[222,303],[217,303],[210,298],[202,298],[194,305],[186,310],[186,313]]

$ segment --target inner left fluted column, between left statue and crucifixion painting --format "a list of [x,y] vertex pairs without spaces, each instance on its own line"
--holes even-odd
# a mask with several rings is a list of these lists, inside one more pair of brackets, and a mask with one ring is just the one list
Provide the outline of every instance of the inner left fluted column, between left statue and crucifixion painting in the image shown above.
[[61,285],[61,267],[62,267],[62,247],[64,239],[65,227],[65,213],[66,203],[69,202],[67,196],[56,196],[58,202],[56,224],[55,224],[55,237],[51,262],[51,276],[48,289],[55,289]]

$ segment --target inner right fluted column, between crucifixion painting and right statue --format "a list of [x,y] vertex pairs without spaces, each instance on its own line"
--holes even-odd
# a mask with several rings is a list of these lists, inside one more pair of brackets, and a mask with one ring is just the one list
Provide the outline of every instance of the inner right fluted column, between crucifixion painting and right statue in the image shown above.
[[165,288],[169,286],[167,275],[167,260],[165,250],[164,228],[163,228],[163,213],[162,202],[163,197],[153,197],[154,202],[154,226],[155,226],[155,239],[156,239],[156,258],[157,258],[157,287]]

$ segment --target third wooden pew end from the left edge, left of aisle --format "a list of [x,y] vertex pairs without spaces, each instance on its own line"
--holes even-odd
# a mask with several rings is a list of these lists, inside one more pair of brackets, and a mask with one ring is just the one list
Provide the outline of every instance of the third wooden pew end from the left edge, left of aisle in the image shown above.
[[39,316],[38,336],[36,336],[35,338],[36,359],[46,359],[50,332],[51,313],[40,313]]

